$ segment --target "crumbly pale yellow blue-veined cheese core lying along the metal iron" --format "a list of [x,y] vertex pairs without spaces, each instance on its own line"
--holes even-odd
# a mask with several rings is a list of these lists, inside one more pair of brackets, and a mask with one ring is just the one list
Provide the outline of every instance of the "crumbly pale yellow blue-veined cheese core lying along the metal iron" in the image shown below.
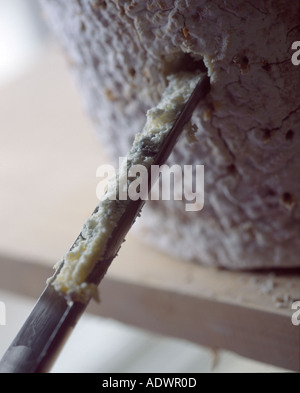
[[[95,286],[88,284],[86,280],[96,263],[104,258],[107,242],[130,203],[129,198],[115,199],[119,184],[124,184],[122,179],[127,179],[132,165],[143,165],[147,169],[150,167],[155,154],[200,80],[200,75],[179,73],[168,79],[169,85],[162,100],[157,107],[147,112],[146,125],[143,131],[137,134],[127,160],[124,160],[119,173],[110,180],[102,201],[85,222],[72,249],[64,256],[63,261],[55,266],[57,269],[61,266],[62,268],[52,285],[69,299],[85,302],[91,296],[96,296]],[[128,186],[133,180],[127,180]]]

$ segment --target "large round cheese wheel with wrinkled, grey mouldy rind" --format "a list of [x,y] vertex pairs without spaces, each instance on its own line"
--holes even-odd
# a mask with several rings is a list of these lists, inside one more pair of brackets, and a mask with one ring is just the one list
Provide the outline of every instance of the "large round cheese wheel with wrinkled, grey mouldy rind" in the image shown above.
[[[196,141],[169,164],[205,165],[205,205],[145,206],[140,234],[177,258],[231,269],[299,266],[300,2],[42,0],[99,136],[117,161],[164,90],[204,59]],[[103,131],[105,130],[105,131]],[[122,132],[121,132],[121,131]]]

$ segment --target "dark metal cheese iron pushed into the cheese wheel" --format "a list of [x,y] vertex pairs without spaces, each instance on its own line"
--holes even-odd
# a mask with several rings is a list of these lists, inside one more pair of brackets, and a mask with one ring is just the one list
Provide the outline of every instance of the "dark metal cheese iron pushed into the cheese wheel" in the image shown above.
[[[160,151],[154,157],[153,165],[161,166],[165,163],[184,125],[190,120],[197,104],[205,98],[209,90],[209,77],[205,76],[197,84],[188,102],[177,117]],[[149,176],[150,187],[153,182],[154,179]],[[108,241],[104,258],[102,257],[101,261],[97,263],[88,277],[88,282],[99,285],[144,203],[144,200],[130,201]],[[58,272],[56,272],[57,274]],[[56,275],[51,281],[55,279]],[[47,372],[69,333],[71,333],[86,309],[88,302],[68,302],[63,294],[54,289],[51,281],[0,361],[0,373]]]

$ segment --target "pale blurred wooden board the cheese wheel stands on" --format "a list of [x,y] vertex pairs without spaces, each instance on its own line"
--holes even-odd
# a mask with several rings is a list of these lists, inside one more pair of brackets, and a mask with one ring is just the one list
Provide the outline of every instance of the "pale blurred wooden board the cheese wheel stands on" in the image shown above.
[[[0,89],[0,287],[38,297],[97,204],[108,162],[61,54]],[[300,371],[299,270],[228,272],[171,259],[130,234],[89,311]]]

